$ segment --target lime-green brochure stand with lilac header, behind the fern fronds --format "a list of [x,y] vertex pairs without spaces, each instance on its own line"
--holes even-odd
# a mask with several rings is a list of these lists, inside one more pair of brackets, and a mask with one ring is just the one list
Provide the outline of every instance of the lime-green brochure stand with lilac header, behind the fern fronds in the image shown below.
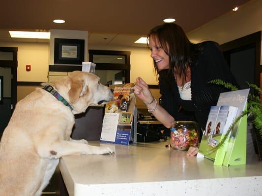
[[[240,116],[242,111],[247,108],[248,93],[249,89],[221,93],[217,105],[231,105],[238,107],[236,117]],[[219,142],[224,137],[225,134],[222,134]],[[246,164],[247,115],[242,117],[239,122],[235,124],[224,145],[211,154],[209,154],[209,152],[213,147],[210,147],[210,139],[212,139],[212,136],[203,135],[200,144],[200,155],[204,154],[205,158],[213,160],[214,165],[224,165],[229,167],[230,165]]]

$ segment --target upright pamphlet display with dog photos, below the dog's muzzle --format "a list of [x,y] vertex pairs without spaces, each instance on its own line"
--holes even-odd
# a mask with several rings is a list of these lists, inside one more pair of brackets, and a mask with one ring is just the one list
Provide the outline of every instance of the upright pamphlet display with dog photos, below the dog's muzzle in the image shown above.
[[114,89],[114,98],[105,106],[100,141],[129,145],[136,105],[134,84],[110,85],[110,88]]

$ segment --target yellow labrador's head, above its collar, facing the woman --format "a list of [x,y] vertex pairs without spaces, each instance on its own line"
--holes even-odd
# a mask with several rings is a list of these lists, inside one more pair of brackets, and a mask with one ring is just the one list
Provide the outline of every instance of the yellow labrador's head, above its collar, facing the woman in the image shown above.
[[92,73],[75,71],[51,83],[73,107],[73,113],[85,112],[89,105],[103,105],[113,98],[110,88]]

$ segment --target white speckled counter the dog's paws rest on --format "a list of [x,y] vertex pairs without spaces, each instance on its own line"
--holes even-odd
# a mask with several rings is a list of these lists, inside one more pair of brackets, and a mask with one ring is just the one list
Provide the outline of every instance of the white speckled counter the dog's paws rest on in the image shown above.
[[262,164],[213,166],[165,142],[110,146],[114,155],[65,156],[59,168],[70,196],[262,196]]

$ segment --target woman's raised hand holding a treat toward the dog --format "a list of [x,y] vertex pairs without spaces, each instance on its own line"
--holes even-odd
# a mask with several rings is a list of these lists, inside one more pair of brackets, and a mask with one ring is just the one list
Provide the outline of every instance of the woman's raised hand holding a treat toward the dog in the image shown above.
[[134,93],[138,98],[141,98],[145,103],[150,103],[153,100],[153,96],[146,84],[146,82],[138,77],[134,86]]

